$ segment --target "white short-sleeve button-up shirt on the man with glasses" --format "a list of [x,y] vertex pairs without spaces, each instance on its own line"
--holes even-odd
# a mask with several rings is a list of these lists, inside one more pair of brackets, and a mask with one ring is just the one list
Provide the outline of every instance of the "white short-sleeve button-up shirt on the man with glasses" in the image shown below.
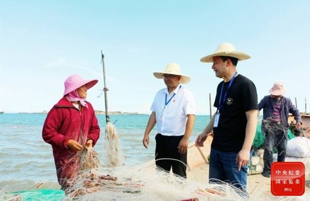
[[158,133],[181,136],[185,134],[187,115],[196,114],[196,104],[192,92],[184,86],[177,86],[170,95],[166,87],[157,92],[151,111],[156,115]]

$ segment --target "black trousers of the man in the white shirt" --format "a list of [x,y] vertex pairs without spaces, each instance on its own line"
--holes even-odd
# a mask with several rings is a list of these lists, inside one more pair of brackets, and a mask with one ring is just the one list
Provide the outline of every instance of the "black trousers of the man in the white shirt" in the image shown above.
[[[182,136],[164,136],[158,133],[155,137],[155,163],[157,168],[162,168],[165,171],[172,172],[186,178],[187,152],[185,154],[178,153],[178,145],[182,140]],[[171,158],[171,159],[161,159]],[[173,160],[177,159],[177,160]],[[180,161],[182,162],[180,162]]]

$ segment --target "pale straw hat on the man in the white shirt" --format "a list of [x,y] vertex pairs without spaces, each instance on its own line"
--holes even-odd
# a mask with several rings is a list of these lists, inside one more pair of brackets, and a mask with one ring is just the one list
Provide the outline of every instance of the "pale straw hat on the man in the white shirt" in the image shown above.
[[181,73],[181,67],[177,63],[170,63],[164,71],[153,72],[153,74],[158,79],[163,79],[164,74],[181,75],[180,84],[186,84],[190,81],[190,77]]

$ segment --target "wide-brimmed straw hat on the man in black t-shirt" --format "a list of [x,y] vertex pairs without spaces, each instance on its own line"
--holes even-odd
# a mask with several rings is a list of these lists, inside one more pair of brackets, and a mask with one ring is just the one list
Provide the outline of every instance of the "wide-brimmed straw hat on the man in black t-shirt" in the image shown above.
[[200,61],[206,63],[213,62],[213,57],[217,56],[234,57],[237,58],[238,61],[251,58],[246,53],[237,51],[231,43],[221,43],[217,46],[217,50],[214,52],[214,54],[202,57]]

